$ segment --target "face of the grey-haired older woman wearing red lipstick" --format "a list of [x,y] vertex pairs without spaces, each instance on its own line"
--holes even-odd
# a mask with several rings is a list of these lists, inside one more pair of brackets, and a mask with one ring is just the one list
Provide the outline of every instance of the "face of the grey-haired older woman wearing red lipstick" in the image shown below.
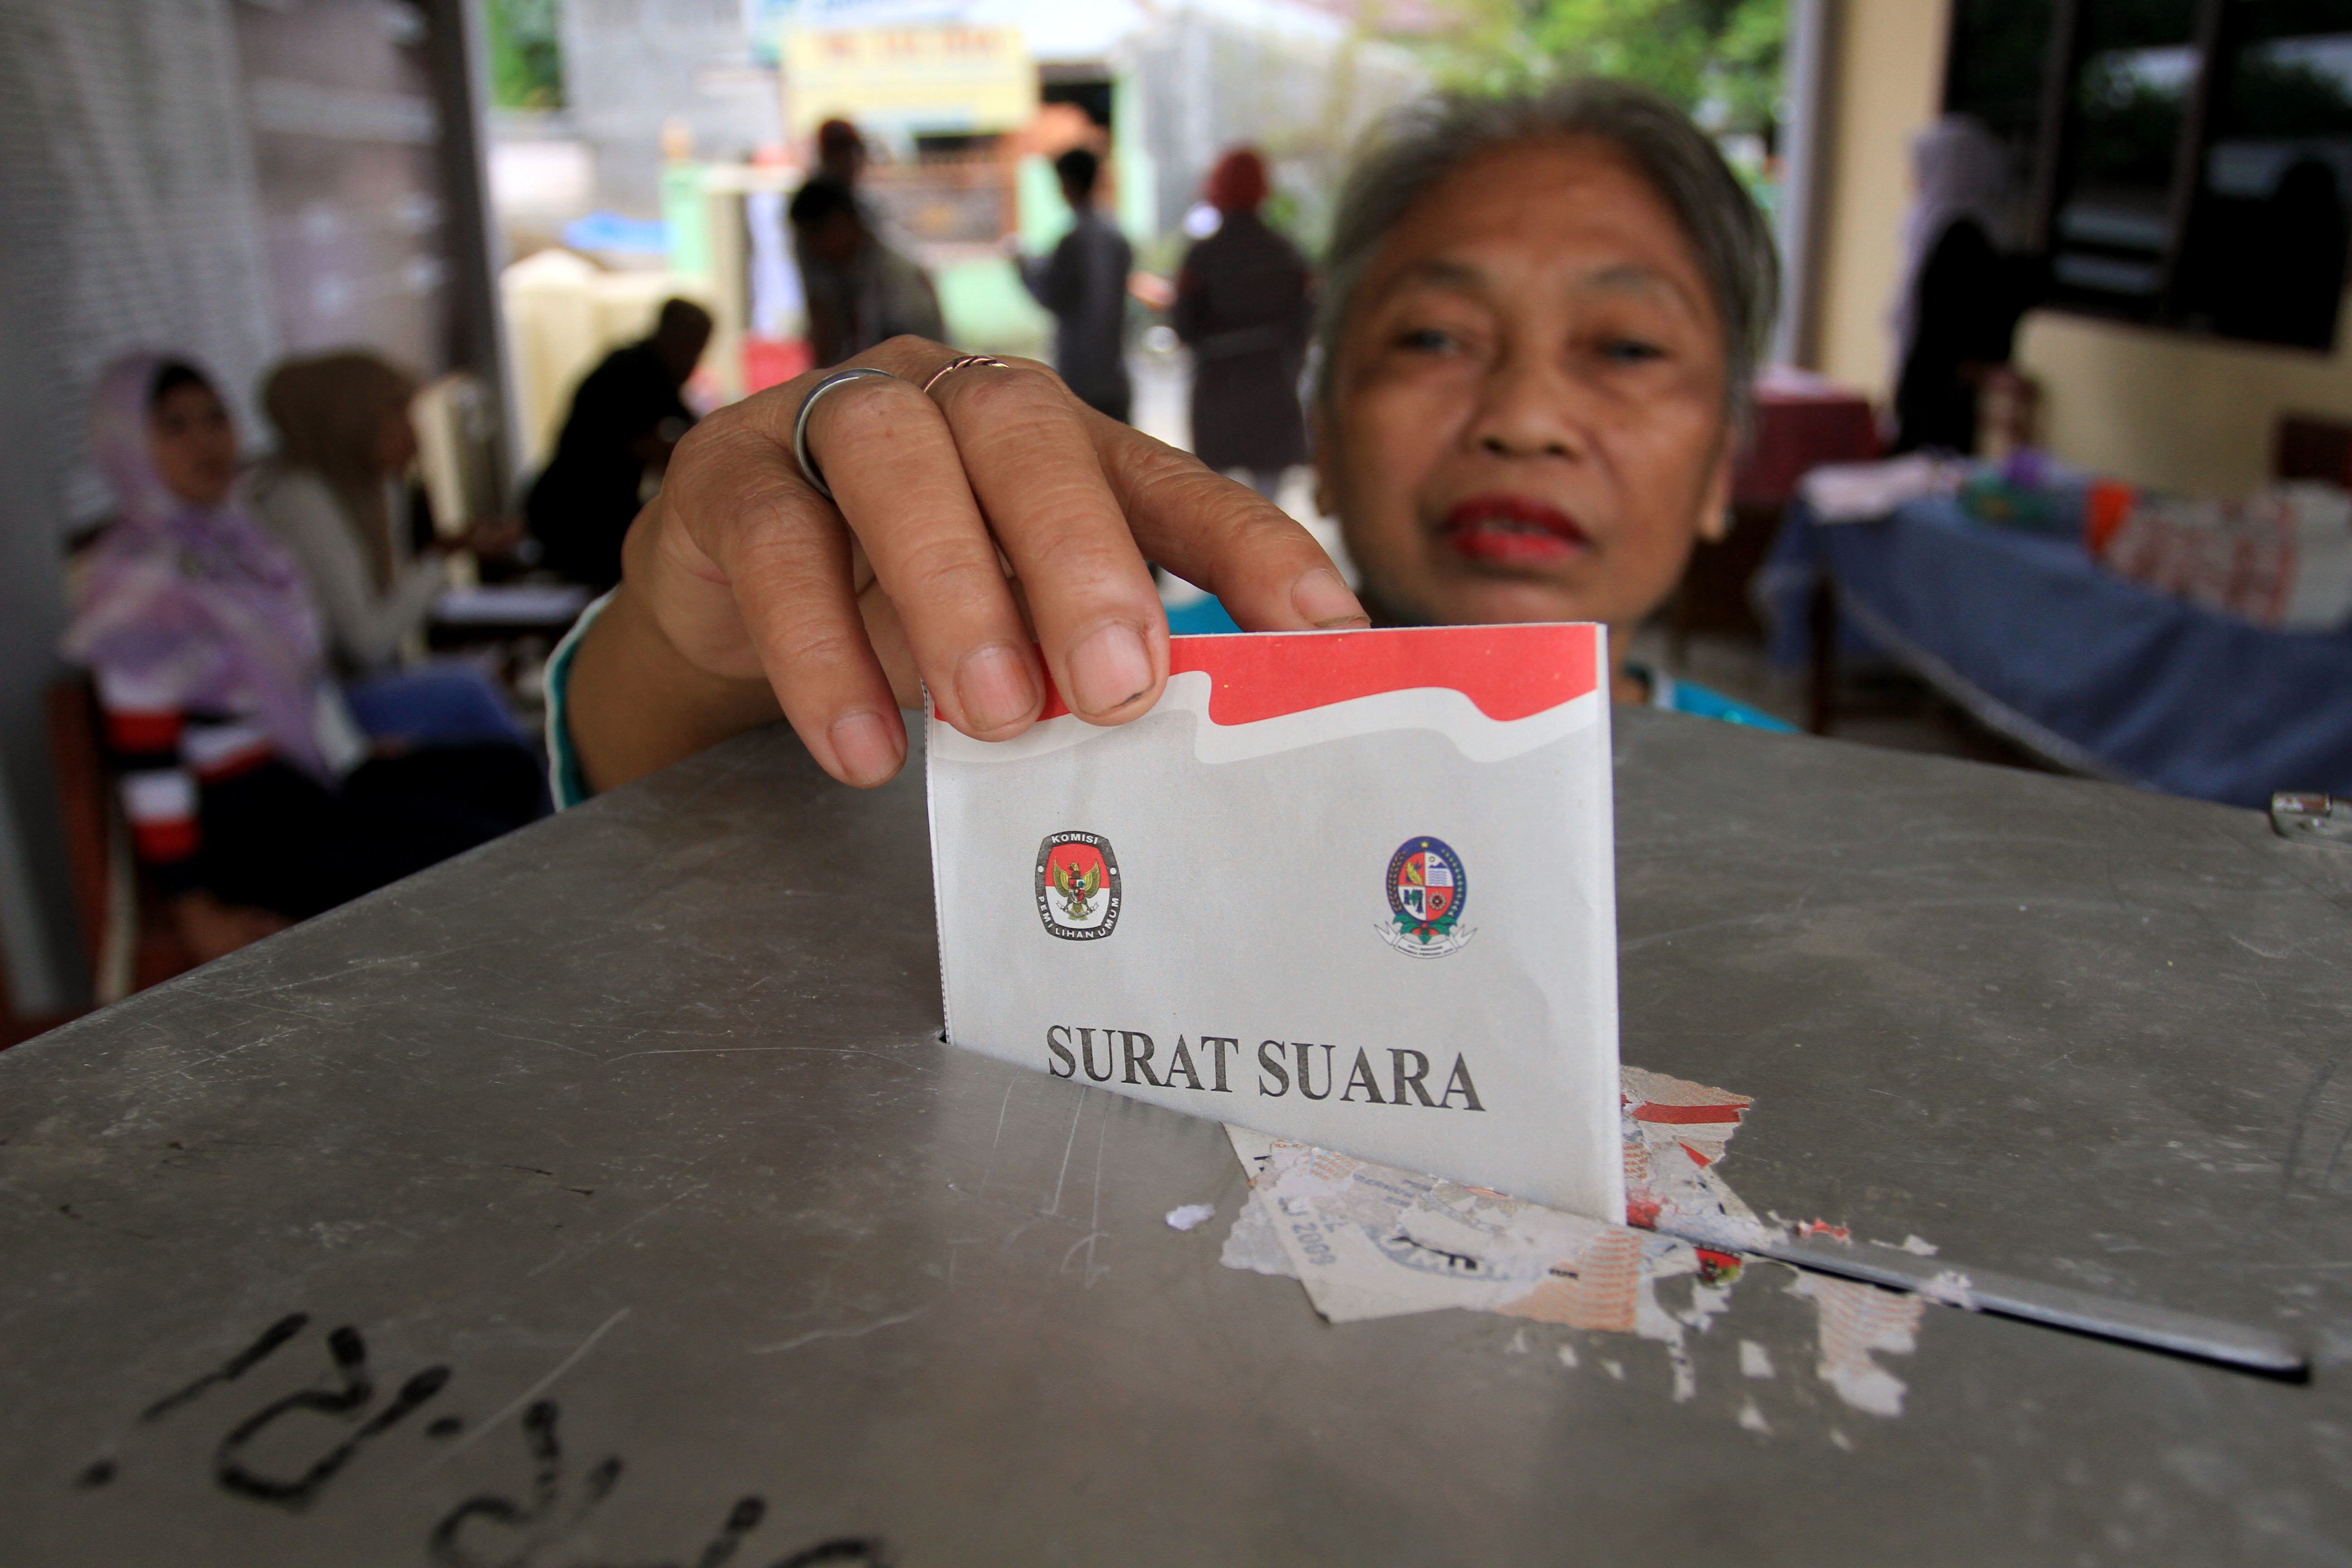
[[1731,484],[1724,334],[1613,148],[1496,148],[1390,230],[1319,411],[1319,505],[1390,616],[1630,630]]

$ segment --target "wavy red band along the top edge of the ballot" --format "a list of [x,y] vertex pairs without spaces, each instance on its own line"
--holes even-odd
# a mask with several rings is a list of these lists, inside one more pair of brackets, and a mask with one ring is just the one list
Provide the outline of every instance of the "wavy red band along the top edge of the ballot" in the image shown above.
[[[1376,632],[1169,637],[1169,675],[1214,682],[1216,724],[1256,724],[1381,691],[1451,686],[1489,719],[1548,712],[1599,686],[1590,625],[1423,625]],[[1040,719],[1070,712],[1047,691]]]

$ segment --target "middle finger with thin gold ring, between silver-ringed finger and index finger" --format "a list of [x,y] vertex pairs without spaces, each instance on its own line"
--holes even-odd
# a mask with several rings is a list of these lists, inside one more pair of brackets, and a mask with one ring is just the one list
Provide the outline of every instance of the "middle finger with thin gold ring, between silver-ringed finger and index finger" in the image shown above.
[[1089,409],[1028,364],[955,371],[936,397],[1054,686],[1094,724],[1148,712],[1167,684],[1167,611],[1103,477]]

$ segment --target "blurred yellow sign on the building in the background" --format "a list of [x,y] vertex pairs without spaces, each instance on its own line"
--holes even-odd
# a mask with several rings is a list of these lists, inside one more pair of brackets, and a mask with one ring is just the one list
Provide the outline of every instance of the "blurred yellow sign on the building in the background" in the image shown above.
[[783,96],[793,136],[833,118],[908,136],[1016,132],[1037,115],[1037,66],[1018,28],[793,28]]

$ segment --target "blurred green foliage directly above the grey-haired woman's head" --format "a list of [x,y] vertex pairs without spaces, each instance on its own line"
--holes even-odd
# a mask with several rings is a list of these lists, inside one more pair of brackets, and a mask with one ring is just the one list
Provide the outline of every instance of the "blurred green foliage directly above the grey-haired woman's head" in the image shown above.
[[1715,132],[1778,118],[1788,0],[1456,0],[1430,45],[1439,82],[1468,92],[1573,75],[1639,82]]

